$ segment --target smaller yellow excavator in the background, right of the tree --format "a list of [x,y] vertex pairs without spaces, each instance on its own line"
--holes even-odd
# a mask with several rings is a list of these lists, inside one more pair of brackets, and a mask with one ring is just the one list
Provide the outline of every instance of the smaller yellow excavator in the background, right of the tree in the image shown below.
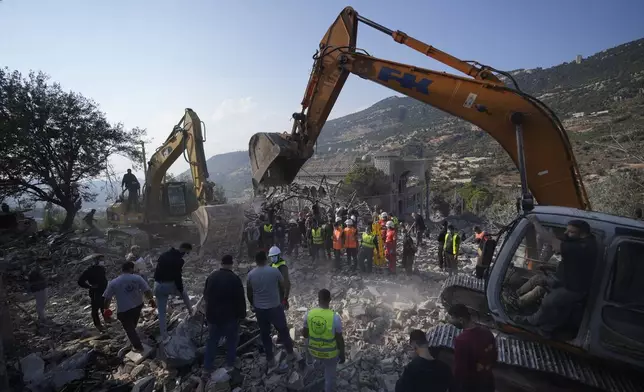
[[[208,180],[205,141],[203,122],[192,109],[186,109],[184,116],[147,163],[141,200],[136,197],[136,202],[131,203],[129,195],[127,198],[121,195],[116,203],[108,207],[108,222],[119,227],[111,230],[110,234],[116,238],[134,239],[130,243],[145,243],[143,233],[166,233],[168,227],[190,218],[197,225],[202,246],[213,229],[224,229],[228,236],[233,232],[241,235],[241,206],[224,205],[217,200],[215,184]],[[192,183],[165,181],[168,169],[180,156],[190,165]],[[176,231],[186,232],[182,229]]]

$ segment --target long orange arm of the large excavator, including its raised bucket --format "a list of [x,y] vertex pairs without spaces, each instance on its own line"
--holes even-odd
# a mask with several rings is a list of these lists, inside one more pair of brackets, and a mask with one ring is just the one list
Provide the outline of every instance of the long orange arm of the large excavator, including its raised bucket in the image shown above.
[[[358,23],[390,35],[459,72],[460,77],[378,59],[356,48]],[[320,42],[320,49],[290,133],[258,133],[249,155],[253,185],[291,183],[313,155],[317,138],[350,73],[469,121],[508,152],[527,188],[544,205],[589,209],[588,196],[568,136],[542,102],[507,87],[492,69],[459,60],[400,31],[389,30],[345,8]]]

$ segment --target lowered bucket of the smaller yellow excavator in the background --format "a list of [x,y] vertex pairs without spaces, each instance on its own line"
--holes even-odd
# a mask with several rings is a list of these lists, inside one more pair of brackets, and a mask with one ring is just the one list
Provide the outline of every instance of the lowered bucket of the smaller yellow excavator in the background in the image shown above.
[[200,254],[236,254],[244,230],[246,204],[201,206],[190,218],[199,229]]

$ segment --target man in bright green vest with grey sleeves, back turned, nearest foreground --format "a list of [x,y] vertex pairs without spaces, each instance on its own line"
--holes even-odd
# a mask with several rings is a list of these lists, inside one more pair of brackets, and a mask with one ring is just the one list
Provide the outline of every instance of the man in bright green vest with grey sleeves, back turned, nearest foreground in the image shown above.
[[324,365],[324,392],[335,391],[337,364],[344,363],[344,338],[342,320],[329,309],[331,293],[327,289],[318,292],[319,307],[304,316],[302,336],[308,340],[309,353]]

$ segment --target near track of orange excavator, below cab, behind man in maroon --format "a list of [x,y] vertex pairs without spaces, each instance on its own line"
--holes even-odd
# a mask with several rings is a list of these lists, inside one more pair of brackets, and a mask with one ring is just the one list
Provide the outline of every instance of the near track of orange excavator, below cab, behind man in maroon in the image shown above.
[[[440,357],[453,355],[454,338],[460,332],[451,324],[439,324],[427,334],[429,347],[440,350]],[[556,391],[553,378],[558,379],[554,380],[556,384],[566,384],[561,390],[570,391],[637,392],[644,385],[638,376],[576,358],[539,342],[499,333],[496,344],[499,354],[495,377],[503,385],[512,385],[511,390]]]

